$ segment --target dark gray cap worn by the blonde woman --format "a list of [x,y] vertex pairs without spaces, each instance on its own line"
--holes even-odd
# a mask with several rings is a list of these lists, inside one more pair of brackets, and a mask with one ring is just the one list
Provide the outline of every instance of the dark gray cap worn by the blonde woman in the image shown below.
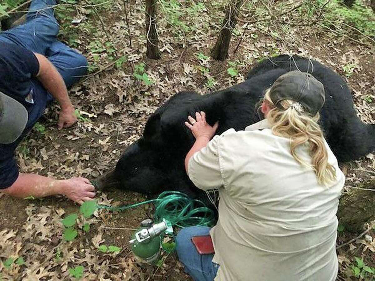
[[293,70],[281,75],[270,88],[270,99],[280,108],[282,100],[299,102],[305,111],[315,116],[324,105],[326,94],[324,86],[310,73]]

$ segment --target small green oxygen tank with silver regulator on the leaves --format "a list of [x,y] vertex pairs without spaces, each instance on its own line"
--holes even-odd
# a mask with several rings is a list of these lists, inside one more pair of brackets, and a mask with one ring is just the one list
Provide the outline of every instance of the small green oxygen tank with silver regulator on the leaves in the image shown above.
[[157,224],[153,224],[149,218],[143,220],[129,241],[133,254],[143,262],[155,264],[160,257],[160,234],[167,228],[165,220]]

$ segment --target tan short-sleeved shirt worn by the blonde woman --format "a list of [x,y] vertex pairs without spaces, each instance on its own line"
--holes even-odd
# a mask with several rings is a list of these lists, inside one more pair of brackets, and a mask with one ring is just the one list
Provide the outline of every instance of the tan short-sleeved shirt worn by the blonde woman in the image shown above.
[[[290,154],[290,141],[267,120],[215,136],[189,160],[188,174],[203,189],[219,188],[219,220],[211,229],[215,280],[329,281],[338,272],[336,212],[345,176],[330,187]],[[308,146],[298,155],[311,163]]]

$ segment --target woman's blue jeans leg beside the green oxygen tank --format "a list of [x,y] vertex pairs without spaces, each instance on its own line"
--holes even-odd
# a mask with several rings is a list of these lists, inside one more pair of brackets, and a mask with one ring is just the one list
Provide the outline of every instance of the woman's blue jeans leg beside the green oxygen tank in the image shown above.
[[212,262],[213,254],[199,254],[191,241],[193,236],[210,234],[210,227],[192,226],[180,230],[176,236],[178,259],[185,266],[185,272],[195,281],[214,280],[219,265]]

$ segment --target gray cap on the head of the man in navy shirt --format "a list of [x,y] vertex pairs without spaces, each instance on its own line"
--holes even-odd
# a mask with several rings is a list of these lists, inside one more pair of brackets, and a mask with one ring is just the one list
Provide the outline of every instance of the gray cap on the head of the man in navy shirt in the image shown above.
[[0,144],[17,140],[26,127],[28,114],[26,108],[0,92]]

